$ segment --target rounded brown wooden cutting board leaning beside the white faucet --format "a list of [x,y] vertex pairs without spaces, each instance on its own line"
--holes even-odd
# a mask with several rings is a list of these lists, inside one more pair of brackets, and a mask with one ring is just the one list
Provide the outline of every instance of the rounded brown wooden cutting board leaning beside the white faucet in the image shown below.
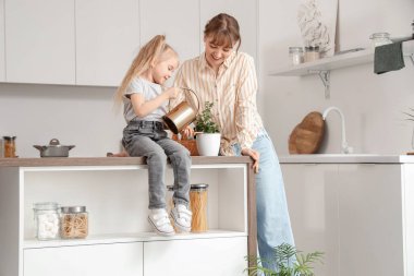
[[313,111],[305,116],[289,136],[290,154],[315,154],[324,141],[325,121],[322,115]]

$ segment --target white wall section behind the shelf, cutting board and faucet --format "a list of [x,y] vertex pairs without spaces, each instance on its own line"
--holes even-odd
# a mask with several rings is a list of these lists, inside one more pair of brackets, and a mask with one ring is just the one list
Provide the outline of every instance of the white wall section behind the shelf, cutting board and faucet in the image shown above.
[[[412,0],[339,0],[340,50],[369,47],[369,35],[388,32],[411,34],[414,20]],[[269,76],[268,72],[289,64],[288,47],[301,44],[295,9],[299,0],[259,1],[259,60],[261,113],[279,154],[288,154],[293,128],[309,111],[322,112],[338,106],[345,115],[349,144],[357,153],[404,154],[411,151],[413,123],[402,111],[414,107],[414,67],[405,59],[400,71],[376,75],[374,65],[331,72],[331,97],[325,99],[317,75]],[[328,117],[322,151],[339,153],[340,118]]]

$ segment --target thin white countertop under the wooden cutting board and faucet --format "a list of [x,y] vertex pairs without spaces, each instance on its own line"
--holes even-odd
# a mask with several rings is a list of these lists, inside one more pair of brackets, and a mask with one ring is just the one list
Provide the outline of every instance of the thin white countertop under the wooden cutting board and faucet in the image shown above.
[[294,154],[280,155],[281,164],[330,164],[330,163],[368,163],[368,164],[414,164],[414,155],[380,154]]

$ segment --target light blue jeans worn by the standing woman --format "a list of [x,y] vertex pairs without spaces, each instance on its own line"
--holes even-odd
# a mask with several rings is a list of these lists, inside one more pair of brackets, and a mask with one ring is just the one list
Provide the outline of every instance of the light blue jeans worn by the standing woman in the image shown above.
[[[282,171],[273,144],[265,130],[252,146],[260,154],[259,171],[256,173],[257,204],[257,244],[263,260],[275,260],[275,247],[282,243],[294,245],[294,239],[288,212]],[[239,144],[233,145],[236,155],[241,155]],[[293,261],[293,260],[291,260]],[[276,263],[263,263],[263,266],[277,271]]]

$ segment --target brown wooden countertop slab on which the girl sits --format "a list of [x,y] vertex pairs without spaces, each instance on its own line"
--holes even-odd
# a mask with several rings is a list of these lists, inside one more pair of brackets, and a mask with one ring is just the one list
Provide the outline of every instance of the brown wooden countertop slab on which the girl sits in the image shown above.
[[[245,164],[246,156],[192,156],[193,165]],[[44,157],[0,158],[0,167],[146,165],[144,157]]]

